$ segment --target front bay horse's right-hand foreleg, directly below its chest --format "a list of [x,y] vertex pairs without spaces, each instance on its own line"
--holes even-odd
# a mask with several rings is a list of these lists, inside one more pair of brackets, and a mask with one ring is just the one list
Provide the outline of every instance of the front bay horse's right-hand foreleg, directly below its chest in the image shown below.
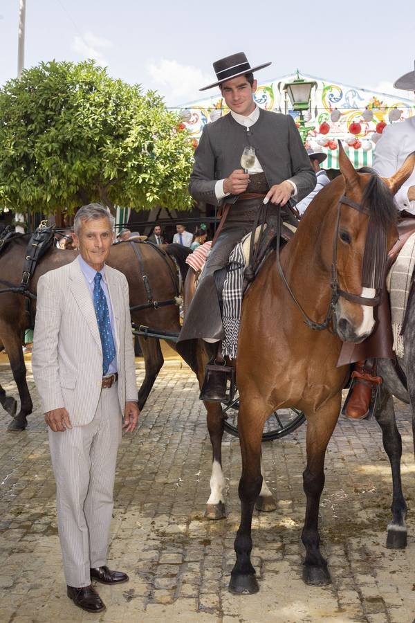
[[313,413],[307,424],[307,466],[303,472],[306,517],[301,539],[306,548],[303,579],[306,584],[313,586],[331,583],[327,561],[320,552],[318,509],[324,487],[326,447],[329,444],[339,413],[340,399],[336,397],[324,408]]

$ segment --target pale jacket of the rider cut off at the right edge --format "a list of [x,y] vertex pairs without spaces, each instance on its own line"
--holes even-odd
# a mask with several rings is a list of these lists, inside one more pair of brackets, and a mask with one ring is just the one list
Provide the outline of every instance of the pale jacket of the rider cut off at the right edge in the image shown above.
[[[382,177],[391,177],[415,152],[415,117],[387,125],[382,132],[374,153],[374,169]],[[395,195],[400,210],[415,214],[415,201],[409,201],[409,186],[415,185],[415,169]]]

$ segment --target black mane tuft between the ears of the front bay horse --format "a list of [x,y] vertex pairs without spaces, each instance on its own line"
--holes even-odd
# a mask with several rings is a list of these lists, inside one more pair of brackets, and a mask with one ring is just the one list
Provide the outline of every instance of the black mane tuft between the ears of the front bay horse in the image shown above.
[[396,224],[398,215],[394,194],[374,169],[362,167],[358,173],[371,175],[362,197],[362,205],[370,210],[371,216],[386,231],[390,226]]

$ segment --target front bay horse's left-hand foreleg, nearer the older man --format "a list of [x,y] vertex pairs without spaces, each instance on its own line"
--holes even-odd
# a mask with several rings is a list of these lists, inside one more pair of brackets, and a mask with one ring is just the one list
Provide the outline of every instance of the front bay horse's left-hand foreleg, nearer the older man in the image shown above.
[[241,523],[234,541],[237,561],[230,575],[229,590],[231,593],[257,593],[259,590],[255,569],[250,561],[250,553],[252,550],[252,512],[262,487],[261,440],[264,419],[259,413],[258,405],[248,406],[241,399],[238,416],[242,455],[242,476],[238,489],[241,500]]

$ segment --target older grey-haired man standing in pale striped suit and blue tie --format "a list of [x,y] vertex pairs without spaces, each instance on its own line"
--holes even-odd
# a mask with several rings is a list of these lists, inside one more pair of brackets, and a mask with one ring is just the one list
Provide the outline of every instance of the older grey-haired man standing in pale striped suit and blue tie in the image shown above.
[[136,428],[139,412],[127,280],[105,265],[113,218],[91,204],[74,228],[80,255],[38,282],[32,365],[48,424],[67,594],[98,613],[105,606],[91,579],[129,579],[107,567],[107,548],[121,431]]

